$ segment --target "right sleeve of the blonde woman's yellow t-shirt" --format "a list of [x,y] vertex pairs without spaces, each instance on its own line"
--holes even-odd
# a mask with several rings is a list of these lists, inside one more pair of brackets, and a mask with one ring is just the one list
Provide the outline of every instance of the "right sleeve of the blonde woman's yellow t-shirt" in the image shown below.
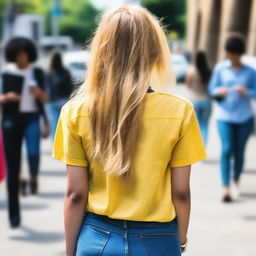
[[207,157],[194,108],[189,106],[176,143],[170,167],[182,167],[199,162]]

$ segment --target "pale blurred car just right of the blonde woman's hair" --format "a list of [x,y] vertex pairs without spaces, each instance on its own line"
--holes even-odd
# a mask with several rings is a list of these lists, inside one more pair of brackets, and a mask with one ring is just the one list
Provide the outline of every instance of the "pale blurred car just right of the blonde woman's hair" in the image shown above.
[[189,63],[183,54],[172,54],[172,69],[177,83],[184,83]]

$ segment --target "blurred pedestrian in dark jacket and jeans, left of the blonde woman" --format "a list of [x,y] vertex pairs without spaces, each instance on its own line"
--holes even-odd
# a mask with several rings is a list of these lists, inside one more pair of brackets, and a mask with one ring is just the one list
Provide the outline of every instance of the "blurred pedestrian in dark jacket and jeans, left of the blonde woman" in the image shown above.
[[64,67],[61,53],[55,51],[50,60],[47,79],[48,113],[51,121],[51,137],[54,138],[60,111],[72,93],[72,82],[69,71]]

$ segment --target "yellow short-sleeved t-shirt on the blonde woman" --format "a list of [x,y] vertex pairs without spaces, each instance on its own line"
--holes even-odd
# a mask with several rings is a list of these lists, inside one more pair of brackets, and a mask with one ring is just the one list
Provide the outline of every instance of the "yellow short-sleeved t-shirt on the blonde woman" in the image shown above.
[[102,171],[101,164],[91,158],[90,138],[86,100],[68,102],[60,115],[53,156],[67,165],[88,167],[86,210],[114,219],[171,221],[175,209],[170,168],[206,158],[192,104],[160,92],[146,96],[132,182]]

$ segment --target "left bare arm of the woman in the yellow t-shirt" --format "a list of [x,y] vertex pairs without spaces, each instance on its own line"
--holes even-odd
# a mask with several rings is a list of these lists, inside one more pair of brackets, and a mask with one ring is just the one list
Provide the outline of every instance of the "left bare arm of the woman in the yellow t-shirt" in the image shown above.
[[64,199],[66,255],[74,256],[77,238],[86,209],[88,196],[87,168],[67,166],[67,186]]

